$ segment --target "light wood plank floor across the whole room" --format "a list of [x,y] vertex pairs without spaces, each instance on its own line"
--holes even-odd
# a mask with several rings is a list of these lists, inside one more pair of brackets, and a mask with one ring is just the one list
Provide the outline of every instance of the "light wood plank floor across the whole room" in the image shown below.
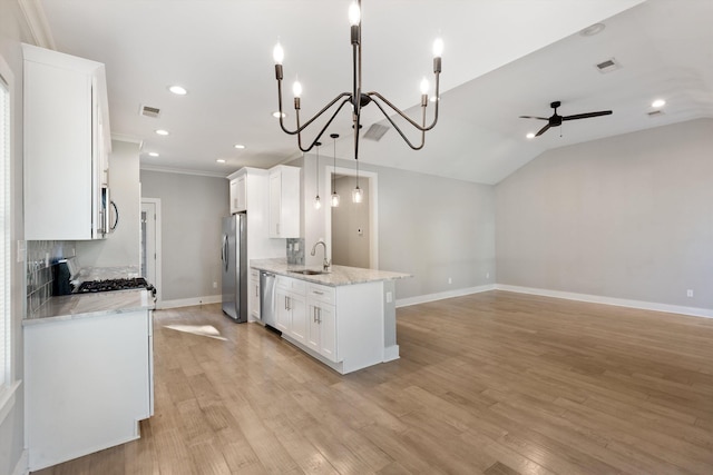
[[156,311],[141,439],[37,473],[713,474],[713,319],[490,291],[399,309],[398,343],[340,376],[217,305]]

